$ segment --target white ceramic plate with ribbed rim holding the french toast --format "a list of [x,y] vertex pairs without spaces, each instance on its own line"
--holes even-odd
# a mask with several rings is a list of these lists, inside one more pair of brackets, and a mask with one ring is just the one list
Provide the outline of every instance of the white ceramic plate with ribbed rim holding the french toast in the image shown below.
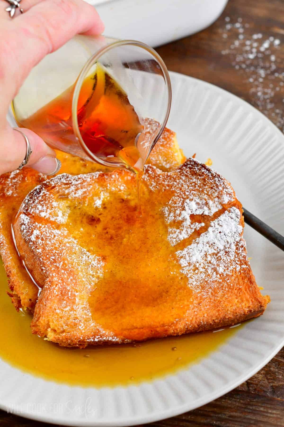
[[[180,74],[171,73],[171,79],[168,126],[184,153],[211,158],[243,205],[284,233],[284,136],[234,95]],[[264,316],[248,322],[218,351],[164,379],[113,389],[53,383],[0,360],[0,407],[13,403],[23,416],[64,425],[128,426],[197,408],[247,380],[284,345],[284,253],[248,226],[245,238],[258,286],[272,302]],[[84,409],[87,398],[95,406],[92,414],[66,405]],[[43,404],[54,410],[43,411]],[[56,411],[56,404],[63,410]]]

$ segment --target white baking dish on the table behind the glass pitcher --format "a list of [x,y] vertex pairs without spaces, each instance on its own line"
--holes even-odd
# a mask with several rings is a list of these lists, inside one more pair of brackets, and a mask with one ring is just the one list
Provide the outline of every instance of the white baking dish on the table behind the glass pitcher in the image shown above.
[[103,19],[105,34],[159,46],[212,24],[228,0],[86,0]]

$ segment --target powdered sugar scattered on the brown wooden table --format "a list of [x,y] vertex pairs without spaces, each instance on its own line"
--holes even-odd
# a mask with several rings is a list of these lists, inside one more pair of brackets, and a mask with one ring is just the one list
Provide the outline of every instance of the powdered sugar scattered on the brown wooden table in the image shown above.
[[[251,102],[284,131],[284,106],[275,108],[275,99],[282,99],[284,73],[282,60],[278,57],[281,38],[253,32],[249,23],[242,18],[233,21],[229,16],[220,29],[224,39],[223,55],[229,55],[232,67],[244,76],[244,82],[251,86]],[[228,38],[228,36],[230,36]],[[235,36],[232,43],[231,38]],[[273,112],[271,112],[271,110]]]

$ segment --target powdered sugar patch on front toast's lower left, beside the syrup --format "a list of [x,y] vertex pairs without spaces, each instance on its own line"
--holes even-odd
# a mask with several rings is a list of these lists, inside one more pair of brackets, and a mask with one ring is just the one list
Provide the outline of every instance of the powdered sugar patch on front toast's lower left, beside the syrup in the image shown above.
[[[19,222],[21,234],[29,239],[29,248],[37,260],[40,273],[47,278],[39,301],[44,294],[51,292],[55,316],[58,314],[62,320],[62,313],[68,312],[70,324],[63,324],[61,332],[68,333],[76,328],[77,333],[82,331],[83,339],[83,330],[88,327],[103,336],[103,329],[92,320],[88,304],[90,293],[103,277],[103,259],[82,248],[66,228],[40,224],[24,213],[20,214]],[[56,307],[60,307],[60,310]],[[118,341],[115,336],[108,337],[108,340]]]

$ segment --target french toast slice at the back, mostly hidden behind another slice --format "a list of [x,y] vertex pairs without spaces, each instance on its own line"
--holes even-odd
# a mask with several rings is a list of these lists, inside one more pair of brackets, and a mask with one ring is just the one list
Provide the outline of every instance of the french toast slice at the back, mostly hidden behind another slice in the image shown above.
[[[152,124],[152,119],[146,119],[146,132],[149,132]],[[57,158],[62,163],[59,173],[78,175],[97,171],[111,172],[113,170],[61,151],[57,151]],[[178,147],[175,132],[165,128],[147,163],[151,163],[163,171],[169,171],[176,169],[184,161],[185,157]],[[9,279],[9,295],[17,310],[23,308],[33,312],[37,301],[38,288],[32,282],[23,267],[22,260],[17,255],[11,233],[11,224],[26,195],[48,178],[46,175],[27,167],[20,171],[16,170],[12,173],[0,175],[0,255],[3,258]]]

